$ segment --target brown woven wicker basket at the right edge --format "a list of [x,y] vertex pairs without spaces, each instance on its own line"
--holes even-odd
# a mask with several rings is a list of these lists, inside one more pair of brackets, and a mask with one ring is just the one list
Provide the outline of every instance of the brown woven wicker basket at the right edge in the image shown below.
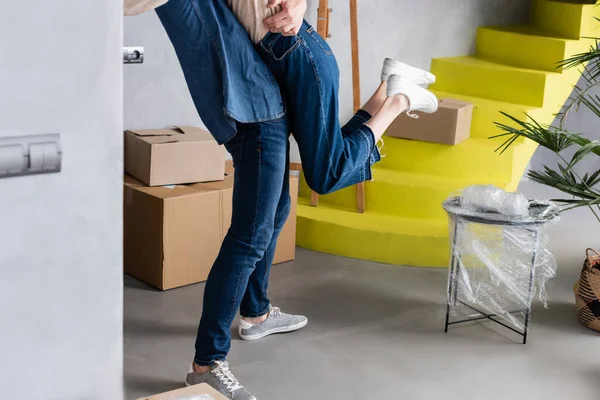
[[574,290],[579,320],[586,327],[600,332],[600,254],[595,250],[587,250],[581,279]]

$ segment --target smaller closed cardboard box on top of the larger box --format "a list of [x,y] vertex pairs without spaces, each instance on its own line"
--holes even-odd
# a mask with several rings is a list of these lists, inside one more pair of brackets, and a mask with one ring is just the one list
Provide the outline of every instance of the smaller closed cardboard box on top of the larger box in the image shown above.
[[125,132],[125,171],[149,186],[222,180],[225,148],[194,127]]

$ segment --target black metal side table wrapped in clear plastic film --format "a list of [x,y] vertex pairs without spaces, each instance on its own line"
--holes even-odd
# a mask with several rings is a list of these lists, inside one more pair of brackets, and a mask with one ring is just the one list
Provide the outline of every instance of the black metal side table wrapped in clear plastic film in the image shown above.
[[[445,332],[451,325],[488,320],[521,335],[526,344],[536,287],[543,296],[556,270],[547,228],[557,220],[558,208],[530,200],[528,216],[509,217],[468,210],[460,197],[449,198],[443,208],[452,243]],[[460,308],[475,314],[452,320]]]

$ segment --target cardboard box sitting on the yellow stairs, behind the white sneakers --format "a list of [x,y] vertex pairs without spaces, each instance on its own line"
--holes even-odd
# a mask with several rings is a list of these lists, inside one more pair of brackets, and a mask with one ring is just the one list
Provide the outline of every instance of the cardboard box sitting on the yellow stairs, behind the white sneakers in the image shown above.
[[471,103],[443,99],[436,113],[416,114],[418,119],[402,113],[388,128],[387,136],[451,145],[464,142],[471,136]]

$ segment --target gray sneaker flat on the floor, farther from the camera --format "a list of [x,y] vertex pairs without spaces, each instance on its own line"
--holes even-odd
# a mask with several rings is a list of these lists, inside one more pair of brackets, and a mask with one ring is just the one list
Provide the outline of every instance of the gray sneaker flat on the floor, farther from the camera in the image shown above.
[[271,307],[269,316],[262,324],[253,325],[243,319],[240,321],[238,333],[244,340],[256,340],[274,333],[297,331],[308,324],[304,315],[282,313],[277,307]]

